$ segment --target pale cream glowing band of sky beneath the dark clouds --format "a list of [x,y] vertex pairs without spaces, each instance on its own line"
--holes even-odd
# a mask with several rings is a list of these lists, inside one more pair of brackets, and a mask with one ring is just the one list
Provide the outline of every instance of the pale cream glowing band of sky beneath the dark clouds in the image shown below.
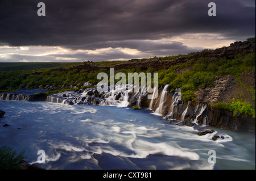
[[[225,39],[217,33],[185,33],[181,36],[163,38],[159,40],[144,40],[148,43],[172,44],[174,41],[182,43],[191,49],[216,49],[229,46],[236,40]],[[187,52],[190,53],[190,52]],[[182,54],[182,52],[180,52]],[[126,47],[107,47],[98,49],[68,49],[64,47],[51,46],[0,46],[0,62],[73,62],[73,61],[125,61],[132,58],[149,58],[154,56],[172,56],[172,53],[161,54],[158,49],[155,52],[141,51]],[[94,59],[95,57],[95,59]]]

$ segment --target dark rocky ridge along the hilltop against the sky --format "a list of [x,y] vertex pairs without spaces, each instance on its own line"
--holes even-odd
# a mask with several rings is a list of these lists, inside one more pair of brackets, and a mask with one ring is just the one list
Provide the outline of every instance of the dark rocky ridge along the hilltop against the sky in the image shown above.
[[[160,58],[155,60],[135,60],[127,61],[122,64],[117,64],[113,66],[97,66],[91,61],[85,61],[84,65],[76,65],[71,68],[55,68],[51,71],[68,71],[73,69],[86,70],[86,71],[97,71],[100,69],[110,69],[114,68],[115,70],[121,69],[134,69],[139,68],[142,71],[146,71],[148,68],[152,70],[161,70],[168,69],[172,65],[183,64],[191,59],[198,60],[200,57],[209,57],[209,58],[234,58],[240,54],[248,54],[255,52],[255,41],[236,41],[235,43],[230,44],[229,47],[222,47],[215,50],[207,50],[203,52],[194,53],[190,56],[181,56],[172,60],[162,61]],[[177,70],[178,71],[178,70]]]

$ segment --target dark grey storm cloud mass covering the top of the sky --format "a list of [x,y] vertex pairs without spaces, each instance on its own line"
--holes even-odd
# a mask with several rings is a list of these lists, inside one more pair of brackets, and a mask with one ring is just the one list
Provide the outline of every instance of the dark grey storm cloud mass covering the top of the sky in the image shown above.
[[[210,1],[44,0],[0,1],[0,45],[121,47],[154,49],[150,42],[183,33],[221,33],[227,39],[255,35],[255,2],[214,0],[217,16],[208,16]],[[124,44],[127,43],[127,44]],[[148,43],[148,44],[147,44]],[[92,47],[90,48],[89,45]],[[163,45],[171,46],[172,45]],[[74,47],[73,47],[74,48]],[[148,49],[147,49],[148,48]]]

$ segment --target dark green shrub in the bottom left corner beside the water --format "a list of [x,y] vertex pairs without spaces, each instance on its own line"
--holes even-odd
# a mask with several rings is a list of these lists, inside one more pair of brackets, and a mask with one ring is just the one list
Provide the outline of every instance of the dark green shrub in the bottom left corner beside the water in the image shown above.
[[0,148],[0,170],[16,170],[20,169],[19,162],[26,158],[23,156],[24,150],[16,155],[16,150],[10,146],[2,146]]

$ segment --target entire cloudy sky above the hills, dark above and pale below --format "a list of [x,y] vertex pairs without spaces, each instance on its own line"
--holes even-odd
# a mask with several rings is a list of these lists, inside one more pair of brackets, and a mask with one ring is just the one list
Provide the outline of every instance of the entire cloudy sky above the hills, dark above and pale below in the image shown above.
[[255,0],[0,0],[0,62],[127,61],[254,36]]

